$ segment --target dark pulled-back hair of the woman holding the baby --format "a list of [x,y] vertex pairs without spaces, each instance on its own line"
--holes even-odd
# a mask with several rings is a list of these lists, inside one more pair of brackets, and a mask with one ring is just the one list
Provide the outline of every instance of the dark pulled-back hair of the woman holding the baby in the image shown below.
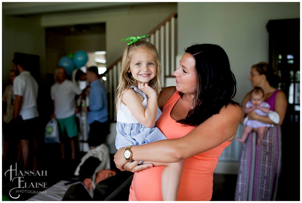
[[272,87],[278,87],[280,77],[278,74],[275,74],[274,69],[268,63],[259,62],[258,64],[252,65],[252,68],[255,68],[260,75],[264,74],[266,80]]

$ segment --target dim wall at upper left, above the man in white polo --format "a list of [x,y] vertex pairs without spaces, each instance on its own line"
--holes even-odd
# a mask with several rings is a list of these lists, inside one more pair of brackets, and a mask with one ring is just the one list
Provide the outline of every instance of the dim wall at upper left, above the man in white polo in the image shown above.
[[45,64],[45,31],[39,17],[2,15],[2,86],[6,85],[13,68],[11,61],[15,52],[39,55],[40,64]]

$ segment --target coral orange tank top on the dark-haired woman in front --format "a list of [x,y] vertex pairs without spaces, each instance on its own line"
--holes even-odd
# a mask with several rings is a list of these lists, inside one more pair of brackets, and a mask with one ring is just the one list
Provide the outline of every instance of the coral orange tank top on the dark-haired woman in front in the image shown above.
[[[170,116],[171,110],[179,98],[178,91],[176,91],[163,107],[162,115],[156,122],[156,127],[168,139],[185,136],[194,129],[192,126],[182,126]],[[213,172],[218,157],[230,143],[225,141],[214,149],[185,159],[178,189],[178,201],[211,200]],[[161,174],[163,168],[163,166],[155,166],[141,172],[135,172],[130,187],[129,201],[162,201]]]

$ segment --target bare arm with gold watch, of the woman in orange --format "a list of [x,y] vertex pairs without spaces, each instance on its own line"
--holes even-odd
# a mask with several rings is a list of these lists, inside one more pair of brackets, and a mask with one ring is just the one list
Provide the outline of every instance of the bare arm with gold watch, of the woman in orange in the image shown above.
[[[181,138],[132,146],[132,159],[176,162],[213,149],[225,141],[231,142],[237,133],[241,115],[242,109],[238,105],[223,107],[219,114],[211,116]],[[114,155],[114,162],[121,170],[127,163],[123,156],[124,149],[119,149]]]

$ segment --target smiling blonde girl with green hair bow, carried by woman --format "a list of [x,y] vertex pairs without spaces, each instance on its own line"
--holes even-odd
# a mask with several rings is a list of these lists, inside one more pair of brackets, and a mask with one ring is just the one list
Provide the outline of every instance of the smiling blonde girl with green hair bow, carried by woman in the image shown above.
[[[115,145],[117,149],[128,146],[129,154],[124,154],[127,160],[132,160],[131,146],[167,139],[158,128],[154,127],[161,115],[157,106],[157,96],[161,89],[161,64],[156,47],[147,41],[139,40],[147,36],[129,37],[136,40],[130,41],[124,50],[120,80],[116,90]],[[129,38],[122,41],[127,41]],[[164,201],[176,201],[183,161],[138,163],[142,162],[165,166],[161,176],[162,198]]]

